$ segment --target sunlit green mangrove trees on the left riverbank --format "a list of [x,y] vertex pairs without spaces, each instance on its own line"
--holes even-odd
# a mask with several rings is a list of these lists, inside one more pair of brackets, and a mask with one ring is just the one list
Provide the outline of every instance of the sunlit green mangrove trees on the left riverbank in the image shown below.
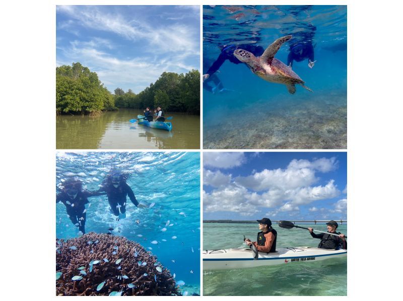
[[97,73],[81,63],[56,67],[56,112],[96,114],[116,109],[113,96]]

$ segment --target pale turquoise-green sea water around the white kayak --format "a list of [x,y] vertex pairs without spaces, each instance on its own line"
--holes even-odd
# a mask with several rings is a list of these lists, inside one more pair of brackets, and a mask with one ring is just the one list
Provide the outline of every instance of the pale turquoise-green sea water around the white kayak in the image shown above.
[[[324,224],[301,224],[326,231]],[[276,224],[277,248],[317,247],[307,230]],[[256,240],[256,224],[203,223],[203,250],[243,247],[243,235]],[[347,235],[347,225],[338,231]],[[347,295],[347,258],[250,269],[204,271],[203,295]]]

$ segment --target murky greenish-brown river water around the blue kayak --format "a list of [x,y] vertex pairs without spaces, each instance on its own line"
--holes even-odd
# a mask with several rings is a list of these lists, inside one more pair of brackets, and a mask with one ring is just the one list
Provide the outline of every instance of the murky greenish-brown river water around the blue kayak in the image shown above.
[[56,116],[57,149],[200,148],[200,116],[167,113],[171,132],[130,123],[143,111],[119,109],[100,116]]

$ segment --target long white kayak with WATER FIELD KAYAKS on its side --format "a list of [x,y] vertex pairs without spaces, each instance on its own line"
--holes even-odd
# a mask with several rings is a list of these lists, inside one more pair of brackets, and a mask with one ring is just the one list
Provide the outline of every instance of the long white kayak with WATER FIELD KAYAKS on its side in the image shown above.
[[255,260],[251,249],[234,248],[227,250],[203,251],[204,270],[225,270],[252,268],[265,265],[301,261],[319,261],[329,258],[347,257],[347,250],[326,250],[310,247],[279,248],[276,253],[258,253]]

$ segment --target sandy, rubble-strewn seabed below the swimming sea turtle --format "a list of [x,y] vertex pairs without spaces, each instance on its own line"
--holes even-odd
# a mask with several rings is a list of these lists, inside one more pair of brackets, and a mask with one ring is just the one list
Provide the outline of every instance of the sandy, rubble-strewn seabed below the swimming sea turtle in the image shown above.
[[259,107],[259,111],[256,104],[243,107],[230,118],[205,125],[204,148],[347,149],[345,95],[271,101]]

